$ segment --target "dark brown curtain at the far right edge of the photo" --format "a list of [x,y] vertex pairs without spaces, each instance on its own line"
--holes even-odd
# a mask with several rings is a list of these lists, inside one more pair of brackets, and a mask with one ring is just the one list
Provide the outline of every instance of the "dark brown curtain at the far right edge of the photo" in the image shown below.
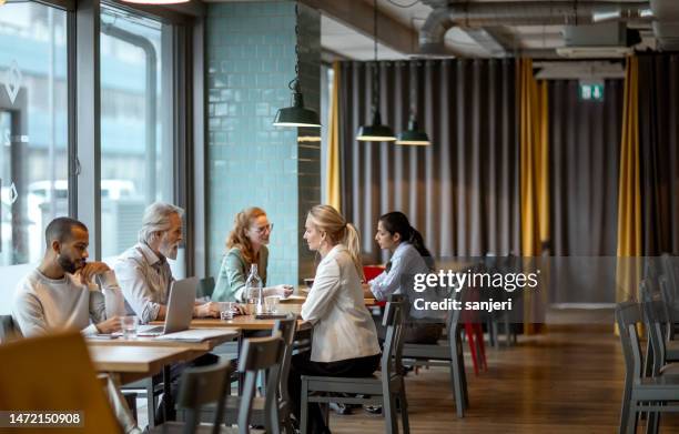
[[678,255],[679,54],[638,59],[643,255]]

